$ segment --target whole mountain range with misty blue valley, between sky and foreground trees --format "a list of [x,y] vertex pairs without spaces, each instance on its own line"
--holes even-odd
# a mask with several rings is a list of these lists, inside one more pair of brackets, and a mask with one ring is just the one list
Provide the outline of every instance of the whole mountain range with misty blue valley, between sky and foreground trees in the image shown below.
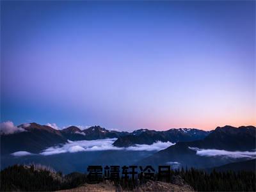
[[[36,162],[53,166],[65,173],[84,170],[84,167],[90,164],[132,163],[150,164],[156,167],[160,164],[170,164],[173,168],[217,168],[230,163],[228,167],[234,167],[232,163],[239,161],[248,161],[252,164],[253,161],[249,160],[256,158],[256,127],[253,126],[226,125],[212,131],[180,128],[168,131],[138,129],[133,132],[109,131],[100,126],[92,126],[84,130],[70,126],[56,130],[36,123],[22,124],[18,127],[24,131],[1,135],[1,166],[3,167],[15,163]],[[103,139],[106,138],[116,138],[111,140],[113,144],[109,144],[108,150],[84,150],[86,148],[83,145],[84,142],[89,141],[90,145],[94,145],[95,140],[99,140],[97,142],[102,143],[104,147],[105,140]],[[158,151],[148,150],[156,145],[157,141],[169,141],[173,145],[159,143],[157,145],[164,144],[164,147]],[[63,145],[71,146],[72,150],[78,148],[79,151],[72,154],[69,152],[54,153],[55,155],[50,156],[17,157],[10,155],[13,152],[40,154],[46,148],[62,150]],[[138,146],[144,149],[137,150]],[[80,150],[81,148],[83,150]],[[129,150],[129,148],[135,148],[135,150]]]

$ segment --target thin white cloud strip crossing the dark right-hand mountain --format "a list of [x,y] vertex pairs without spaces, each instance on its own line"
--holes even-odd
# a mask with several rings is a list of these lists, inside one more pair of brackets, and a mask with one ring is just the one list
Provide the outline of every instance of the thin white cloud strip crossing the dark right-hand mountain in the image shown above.
[[198,156],[206,156],[206,157],[230,157],[230,158],[248,158],[253,159],[256,157],[256,151],[228,151],[228,150],[219,150],[219,149],[204,149],[197,147],[189,147],[191,150],[196,151],[196,155]]

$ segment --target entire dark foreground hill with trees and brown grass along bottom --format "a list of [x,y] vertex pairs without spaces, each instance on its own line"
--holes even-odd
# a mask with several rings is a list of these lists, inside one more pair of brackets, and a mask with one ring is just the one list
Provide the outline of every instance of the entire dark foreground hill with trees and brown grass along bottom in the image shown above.
[[175,170],[170,181],[103,181],[88,184],[83,173],[63,175],[42,165],[15,165],[1,171],[0,191],[255,191],[255,172]]

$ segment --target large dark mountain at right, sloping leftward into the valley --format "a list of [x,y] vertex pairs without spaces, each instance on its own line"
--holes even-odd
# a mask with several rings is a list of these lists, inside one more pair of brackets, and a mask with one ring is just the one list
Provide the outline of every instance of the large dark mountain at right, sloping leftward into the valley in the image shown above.
[[[141,160],[139,164],[179,163],[180,166],[193,166],[196,168],[220,166],[248,160],[246,155],[239,156],[239,153],[235,151],[251,151],[255,153],[255,141],[256,127],[217,127],[203,140],[178,142],[176,145],[172,145]],[[200,155],[198,151],[201,152]],[[234,152],[233,157],[225,156],[225,154],[230,154],[228,153],[229,151]]]

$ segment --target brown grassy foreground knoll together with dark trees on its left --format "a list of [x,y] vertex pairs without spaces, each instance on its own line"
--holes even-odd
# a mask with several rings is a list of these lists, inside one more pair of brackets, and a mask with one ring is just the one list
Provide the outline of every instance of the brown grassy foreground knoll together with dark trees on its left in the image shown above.
[[[83,173],[62,175],[52,168],[36,165],[15,165],[1,171],[1,191],[194,191],[178,177],[173,182],[148,180],[123,186],[108,180],[99,184],[88,184]],[[131,183],[131,180],[129,180]],[[124,190],[123,190],[124,189]]]

